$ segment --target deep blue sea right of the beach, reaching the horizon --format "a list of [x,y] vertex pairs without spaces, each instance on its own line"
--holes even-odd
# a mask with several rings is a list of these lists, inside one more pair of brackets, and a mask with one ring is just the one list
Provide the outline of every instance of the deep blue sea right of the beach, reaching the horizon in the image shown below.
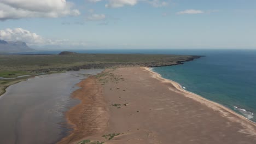
[[[183,65],[153,70],[190,92],[216,101],[256,122],[256,50],[73,50],[80,53],[205,55]],[[59,53],[36,52],[36,53]],[[236,106],[236,107],[234,107]]]

